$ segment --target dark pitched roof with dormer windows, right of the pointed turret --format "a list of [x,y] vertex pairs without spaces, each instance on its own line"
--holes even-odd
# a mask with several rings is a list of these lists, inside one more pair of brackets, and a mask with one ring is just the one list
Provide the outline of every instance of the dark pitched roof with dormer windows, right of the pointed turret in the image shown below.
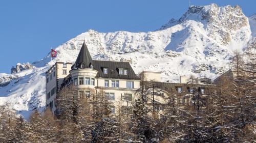
[[[97,77],[117,79],[138,79],[129,62],[96,61],[93,60],[93,68],[98,71]],[[108,74],[103,73],[103,68],[108,68]],[[127,75],[119,74],[119,69],[127,69]]]

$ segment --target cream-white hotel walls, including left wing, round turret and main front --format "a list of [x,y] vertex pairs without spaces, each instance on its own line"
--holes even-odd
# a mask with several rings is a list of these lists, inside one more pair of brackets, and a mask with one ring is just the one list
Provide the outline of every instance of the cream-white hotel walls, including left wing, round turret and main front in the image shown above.
[[[53,113],[56,111],[56,95],[60,90],[63,79],[67,76],[71,76],[72,84],[78,89],[78,92],[86,94],[90,89],[103,90],[106,96],[109,95],[109,100],[114,105],[122,102],[123,106],[127,106],[130,102],[126,100],[126,96],[130,97],[129,100],[136,99],[135,91],[140,88],[140,80],[100,78],[97,77],[97,70],[89,68],[71,70],[71,63],[68,63],[65,67],[63,67],[63,64],[65,63],[58,62],[46,72],[48,80],[46,83],[46,106]],[[70,75],[66,74],[64,70],[67,70]],[[131,105],[129,104],[129,106]]]

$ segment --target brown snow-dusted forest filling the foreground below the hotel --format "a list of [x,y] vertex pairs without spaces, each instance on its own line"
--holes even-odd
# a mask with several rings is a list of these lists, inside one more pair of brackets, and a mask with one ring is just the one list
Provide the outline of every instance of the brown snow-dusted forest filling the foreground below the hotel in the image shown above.
[[81,97],[72,87],[58,94],[57,116],[49,108],[34,110],[26,121],[2,106],[0,142],[256,142],[256,54],[246,55],[236,52],[230,63],[235,78],[220,78],[205,95],[191,77],[194,90],[185,104],[140,74],[136,100],[116,101],[115,114],[103,90]]

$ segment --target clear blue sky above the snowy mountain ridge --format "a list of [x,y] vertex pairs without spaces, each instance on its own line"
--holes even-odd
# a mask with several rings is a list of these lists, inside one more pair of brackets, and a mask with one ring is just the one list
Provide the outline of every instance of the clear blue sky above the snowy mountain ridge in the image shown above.
[[[154,31],[187,11],[189,0],[0,1],[0,73],[16,63],[34,62],[71,38],[88,31]],[[239,5],[246,16],[255,0],[190,0],[191,5]]]

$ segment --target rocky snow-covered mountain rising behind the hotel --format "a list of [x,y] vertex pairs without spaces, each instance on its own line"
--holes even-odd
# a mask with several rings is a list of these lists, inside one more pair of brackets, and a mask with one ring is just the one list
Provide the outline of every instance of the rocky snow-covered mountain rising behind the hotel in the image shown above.
[[[85,39],[94,60],[129,61],[136,73],[161,71],[162,81],[178,82],[180,75],[215,78],[229,68],[233,50],[243,51],[252,43],[255,15],[249,20],[238,6],[191,6],[154,32],[89,30],[58,46],[52,62],[74,62]],[[22,113],[44,107],[49,62],[48,53],[33,69],[0,74],[0,105]]]

